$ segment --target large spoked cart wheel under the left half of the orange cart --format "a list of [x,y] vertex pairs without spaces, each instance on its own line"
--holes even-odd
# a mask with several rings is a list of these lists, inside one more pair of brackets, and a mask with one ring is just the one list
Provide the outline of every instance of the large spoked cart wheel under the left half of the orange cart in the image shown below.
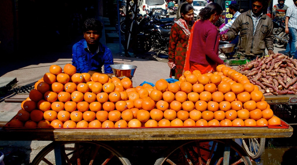
[[42,149],[31,165],[91,165],[123,164],[131,165],[127,158],[113,148],[91,141],[52,142]]

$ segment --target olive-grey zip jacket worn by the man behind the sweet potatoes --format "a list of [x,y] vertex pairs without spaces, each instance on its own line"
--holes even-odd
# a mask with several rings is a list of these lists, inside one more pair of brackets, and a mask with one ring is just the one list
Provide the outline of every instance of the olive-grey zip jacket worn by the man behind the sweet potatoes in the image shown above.
[[253,36],[253,20],[251,10],[241,13],[229,31],[228,41],[232,41],[239,34],[239,51],[245,54],[261,54],[265,48],[273,50],[273,22],[270,17],[263,14]]

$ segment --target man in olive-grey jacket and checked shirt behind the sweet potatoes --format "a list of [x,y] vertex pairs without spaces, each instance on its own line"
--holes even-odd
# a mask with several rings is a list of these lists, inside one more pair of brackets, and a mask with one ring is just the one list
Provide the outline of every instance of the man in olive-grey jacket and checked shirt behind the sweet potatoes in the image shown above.
[[239,51],[253,59],[263,56],[265,48],[268,55],[273,52],[273,22],[263,13],[267,0],[252,0],[252,9],[240,14],[226,34],[221,35],[222,41],[232,41],[239,34]]

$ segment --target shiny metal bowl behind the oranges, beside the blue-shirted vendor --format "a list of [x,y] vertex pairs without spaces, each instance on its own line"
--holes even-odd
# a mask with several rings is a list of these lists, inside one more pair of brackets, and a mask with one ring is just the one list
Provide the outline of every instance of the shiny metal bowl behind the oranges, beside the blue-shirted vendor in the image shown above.
[[113,64],[110,65],[113,74],[118,78],[132,78],[134,76],[136,66],[135,65],[125,65],[125,64]]

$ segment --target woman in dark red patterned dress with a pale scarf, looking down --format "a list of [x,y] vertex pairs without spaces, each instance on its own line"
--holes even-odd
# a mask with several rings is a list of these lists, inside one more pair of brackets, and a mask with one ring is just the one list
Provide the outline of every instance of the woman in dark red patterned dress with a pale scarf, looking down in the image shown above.
[[[184,4],[181,6],[181,18],[174,23],[171,27],[169,50],[168,50],[168,66],[172,68],[176,65],[175,73],[170,72],[175,79],[179,79],[182,76],[187,44],[194,24],[194,11],[191,4]],[[172,69],[171,69],[172,71]]]

